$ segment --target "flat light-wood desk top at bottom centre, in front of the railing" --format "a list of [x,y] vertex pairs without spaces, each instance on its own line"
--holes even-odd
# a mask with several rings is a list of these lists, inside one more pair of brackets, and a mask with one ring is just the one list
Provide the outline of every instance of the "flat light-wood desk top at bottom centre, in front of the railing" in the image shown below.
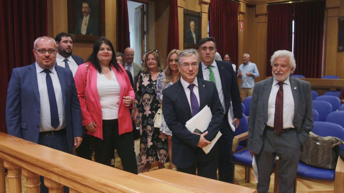
[[221,182],[218,180],[169,169],[154,170],[151,172],[140,173],[139,175],[192,192],[257,192],[255,189],[244,186]]

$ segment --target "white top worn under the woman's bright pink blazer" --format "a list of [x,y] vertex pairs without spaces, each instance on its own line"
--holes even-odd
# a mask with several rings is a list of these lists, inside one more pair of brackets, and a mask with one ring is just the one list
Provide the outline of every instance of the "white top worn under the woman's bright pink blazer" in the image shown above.
[[97,70],[97,89],[103,120],[118,118],[121,87],[113,70],[111,70],[110,80]]

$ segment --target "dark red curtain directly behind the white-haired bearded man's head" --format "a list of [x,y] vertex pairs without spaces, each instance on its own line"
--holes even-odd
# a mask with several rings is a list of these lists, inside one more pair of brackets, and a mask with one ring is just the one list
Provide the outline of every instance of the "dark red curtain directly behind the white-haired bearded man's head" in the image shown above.
[[266,76],[272,76],[270,59],[281,49],[292,51],[293,4],[268,5]]

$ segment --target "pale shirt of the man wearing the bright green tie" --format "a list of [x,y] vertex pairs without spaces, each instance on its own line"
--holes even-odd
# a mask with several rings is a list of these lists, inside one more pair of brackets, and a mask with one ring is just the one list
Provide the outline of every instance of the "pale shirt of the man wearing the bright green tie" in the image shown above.
[[[202,64],[203,80],[210,81],[209,80],[210,70],[209,70],[208,66],[206,66],[202,61],[201,61],[201,64]],[[212,70],[213,70],[214,76],[215,76],[215,82],[216,82],[216,89],[218,92],[218,97],[220,98],[221,104],[222,104],[223,109],[224,109],[224,113],[226,113],[227,108],[226,108],[225,98],[224,98],[223,91],[222,91],[220,73],[218,72],[218,67],[217,67],[215,60],[214,60],[213,64],[211,64],[211,66],[212,66]]]

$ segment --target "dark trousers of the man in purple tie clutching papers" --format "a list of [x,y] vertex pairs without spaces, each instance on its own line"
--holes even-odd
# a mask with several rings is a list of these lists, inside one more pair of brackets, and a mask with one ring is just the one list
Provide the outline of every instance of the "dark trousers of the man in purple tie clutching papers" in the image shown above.
[[198,176],[216,180],[217,179],[217,175],[216,175],[217,166],[218,166],[217,158],[212,161],[203,162],[198,158],[197,153],[196,153],[194,162],[189,168],[177,167],[177,171],[196,175],[196,169],[197,169]]

